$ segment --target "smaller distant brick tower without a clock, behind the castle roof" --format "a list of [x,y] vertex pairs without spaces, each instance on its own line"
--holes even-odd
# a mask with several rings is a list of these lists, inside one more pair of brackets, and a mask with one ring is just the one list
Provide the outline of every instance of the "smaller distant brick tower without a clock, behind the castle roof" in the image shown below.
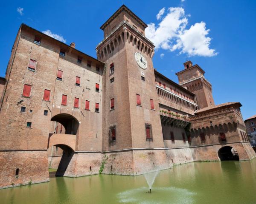
[[214,106],[212,85],[204,78],[204,70],[199,65],[193,65],[191,61],[183,65],[184,70],[176,73],[179,84],[195,94],[198,108]]

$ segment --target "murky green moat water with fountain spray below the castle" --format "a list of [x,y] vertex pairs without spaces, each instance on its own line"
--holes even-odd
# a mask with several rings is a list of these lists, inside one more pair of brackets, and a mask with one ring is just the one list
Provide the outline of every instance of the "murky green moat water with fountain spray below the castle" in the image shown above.
[[195,162],[141,176],[57,177],[0,190],[2,204],[256,204],[256,159]]

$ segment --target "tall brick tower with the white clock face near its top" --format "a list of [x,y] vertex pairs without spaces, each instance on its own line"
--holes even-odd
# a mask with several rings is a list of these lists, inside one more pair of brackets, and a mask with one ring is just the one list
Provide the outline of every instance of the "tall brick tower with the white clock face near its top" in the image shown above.
[[105,62],[105,173],[136,175],[155,166],[169,166],[164,150],[160,150],[164,144],[152,64],[154,45],[145,37],[146,27],[124,5],[101,26],[104,40],[96,52]]

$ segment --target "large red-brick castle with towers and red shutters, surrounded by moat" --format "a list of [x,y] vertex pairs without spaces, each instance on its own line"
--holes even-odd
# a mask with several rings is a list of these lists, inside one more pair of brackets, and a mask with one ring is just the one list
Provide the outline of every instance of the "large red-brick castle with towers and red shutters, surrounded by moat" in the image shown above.
[[[146,27],[121,6],[100,27],[95,59],[20,26],[0,80],[1,188],[49,181],[49,162],[58,176],[135,176],[256,157],[241,104],[215,105],[204,70],[190,61],[179,84],[155,70]],[[58,161],[52,147],[63,151]]]

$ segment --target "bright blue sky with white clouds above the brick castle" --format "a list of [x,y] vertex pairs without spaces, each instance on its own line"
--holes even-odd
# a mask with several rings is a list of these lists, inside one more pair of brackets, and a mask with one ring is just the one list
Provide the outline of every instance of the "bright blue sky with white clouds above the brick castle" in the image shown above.
[[[244,119],[256,114],[253,0],[1,1],[0,76],[5,75],[21,23],[58,34],[67,44],[76,42],[77,49],[96,57],[95,47],[103,38],[99,27],[122,3],[153,28],[148,33],[157,44],[153,58],[157,71],[178,82],[175,73],[183,69],[186,59],[191,60],[206,72],[215,104],[241,102]],[[177,23],[168,27],[173,23],[168,17],[175,15],[181,24],[173,31]],[[166,38],[157,35],[166,25]]]

